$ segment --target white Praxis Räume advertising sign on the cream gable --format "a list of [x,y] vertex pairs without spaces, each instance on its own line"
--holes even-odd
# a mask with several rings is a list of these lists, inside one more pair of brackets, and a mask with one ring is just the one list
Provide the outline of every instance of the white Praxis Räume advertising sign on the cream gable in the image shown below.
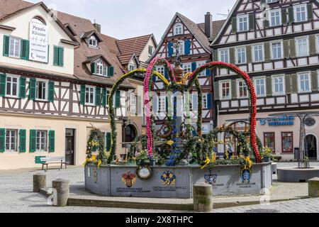
[[47,63],[49,57],[49,36],[47,26],[30,22],[29,60]]

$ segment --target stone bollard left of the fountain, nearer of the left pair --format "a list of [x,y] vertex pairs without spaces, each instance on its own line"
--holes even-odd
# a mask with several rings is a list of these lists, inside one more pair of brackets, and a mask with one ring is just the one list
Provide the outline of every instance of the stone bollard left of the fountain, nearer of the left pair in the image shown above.
[[69,181],[67,179],[55,179],[52,188],[57,190],[57,204],[55,206],[67,206],[69,199]]

